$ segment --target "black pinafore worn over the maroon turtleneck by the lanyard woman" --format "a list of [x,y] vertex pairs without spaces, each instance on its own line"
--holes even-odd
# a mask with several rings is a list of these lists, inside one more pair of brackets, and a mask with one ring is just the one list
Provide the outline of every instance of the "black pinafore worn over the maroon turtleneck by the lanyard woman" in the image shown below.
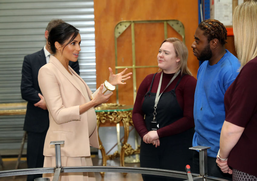
[[[165,127],[183,117],[183,110],[178,104],[175,90],[181,81],[177,81],[176,86],[169,92],[161,95],[157,105],[156,120],[159,128]],[[148,131],[151,131],[150,122],[153,120],[156,93],[151,92],[155,75],[151,82],[149,91],[145,94],[142,110],[145,113],[145,124]],[[185,166],[191,164],[192,153],[188,148],[192,146],[194,128],[182,133],[160,138],[160,146],[155,148],[152,144],[144,143],[141,140],[140,166],[148,168],[161,168],[185,171]],[[181,180],[172,177],[160,177],[142,174],[144,181],[150,180]],[[183,179],[182,179],[183,180]]]

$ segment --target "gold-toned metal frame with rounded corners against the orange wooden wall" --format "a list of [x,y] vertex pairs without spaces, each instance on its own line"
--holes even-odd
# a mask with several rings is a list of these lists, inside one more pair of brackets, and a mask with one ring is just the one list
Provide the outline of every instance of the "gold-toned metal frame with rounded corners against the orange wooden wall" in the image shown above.
[[[164,39],[168,38],[168,29],[167,24],[170,25],[178,34],[180,34],[183,38],[183,42],[185,43],[185,29],[184,25],[181,21],[178,20],[145,20],[145,21],[120,21],[114,29],[114,37],[115,37],[115,72],[118,73],[118,69],[124,68],[132,68],[133,75],[133,97],[134,102],[136,98],[136,68],[150,68],[150,67],[158,67],[158,66],[136,66],[136,58],[135,58],[135,23],[163,23],[164,25]],[[131,27],[131,39],[132,39],[132,66],[118,66],[117,60],[117,39],[119,36],[128,28]],[[116,102],[119,104],[119,89],[116,86]]]

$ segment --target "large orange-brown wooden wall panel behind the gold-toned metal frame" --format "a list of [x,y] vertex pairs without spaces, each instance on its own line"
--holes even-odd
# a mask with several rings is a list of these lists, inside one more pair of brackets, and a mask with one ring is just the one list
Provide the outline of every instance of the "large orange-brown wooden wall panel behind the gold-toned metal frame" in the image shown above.
[[[115,69],[114,28],[122,20],[176,19],[181,21],[185,28],[186,46],[189,50],[188,67],[196,77],[199,62],[193,55],[191,44],[198,26],[197,0],[94,0],[94,14],[97,86],[108,78],[108,67]],[[178,34],[169,27],[168,36],[170,35],[178,37]],[[135,39],[137,65],[143,65],[145,62],[148,65],[157,65],[156,56],[164,39],[163,26],[135,24]],[[131,65],[131,31],[127,29],[117,43],[118,65]],[[149,72],[154,73],[157,70],[158,68],[138,69],[136,71],[137,88]],[[127,81],[125,86],[119,86],[119,103],[133,104],[132,86],[132,79]],[[112,96],[109,102],[116,102],[116,96]]]

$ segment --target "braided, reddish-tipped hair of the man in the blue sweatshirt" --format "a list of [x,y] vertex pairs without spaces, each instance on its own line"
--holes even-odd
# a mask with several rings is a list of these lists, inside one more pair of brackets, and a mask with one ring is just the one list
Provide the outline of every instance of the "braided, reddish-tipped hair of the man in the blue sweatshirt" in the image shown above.
[[227,30],[220,21],[215,19],[207,19],[202,21],[198,27],[203,30],[203,35],[207,37],[209,42],[214,38],[217,38],[220,44],[224,45],[227,43]]

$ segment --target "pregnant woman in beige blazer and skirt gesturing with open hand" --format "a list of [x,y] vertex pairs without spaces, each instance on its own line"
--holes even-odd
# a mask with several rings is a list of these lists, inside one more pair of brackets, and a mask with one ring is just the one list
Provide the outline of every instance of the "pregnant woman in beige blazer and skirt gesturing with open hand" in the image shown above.
[[[49,110],[50,125],[44,143],[44,167],[54,167],[55,148],[50,141],[64,140],[61,145],[62,166],[92,166],[90,147],[99,148],[96,113],[94,107],[109,100],[102,94],[102,87],[91,100],[89,87],[68,65],[77,61],[80,52],[79,30],[62,23],[53,28],[48,37],[54,56],[48,64],[41,67],[38,83]],[[132,73],[113,74],[109,68],[109,83],[125,84]],[[53,174],[44,174],[53,178]],[[94,173],[62,173],[60,180],[95,180]]]

